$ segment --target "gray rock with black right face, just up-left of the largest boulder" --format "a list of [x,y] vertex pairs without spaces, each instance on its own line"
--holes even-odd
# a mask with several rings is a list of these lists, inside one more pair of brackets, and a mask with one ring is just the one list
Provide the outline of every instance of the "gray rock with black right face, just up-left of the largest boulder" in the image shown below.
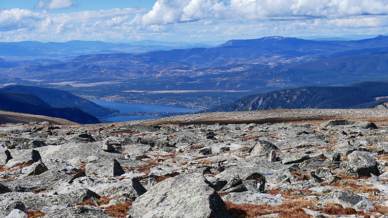
[[138,179],[132,178],[128,181],[122,181],[108,187],[104,187],[98,192],[98,194],[100,196],[110,196],[110,198],[124,195],[127,198],[135,200],[140,195],[146,193],[146,191],[146,188],[143,187]]

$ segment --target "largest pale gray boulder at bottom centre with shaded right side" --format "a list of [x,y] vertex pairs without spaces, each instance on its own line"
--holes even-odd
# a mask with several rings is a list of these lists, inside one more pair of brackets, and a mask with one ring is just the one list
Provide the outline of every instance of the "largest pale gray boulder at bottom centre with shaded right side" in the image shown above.
[[226,205],[199,173],[168,178],[130,206],[132,218],[229,218]]

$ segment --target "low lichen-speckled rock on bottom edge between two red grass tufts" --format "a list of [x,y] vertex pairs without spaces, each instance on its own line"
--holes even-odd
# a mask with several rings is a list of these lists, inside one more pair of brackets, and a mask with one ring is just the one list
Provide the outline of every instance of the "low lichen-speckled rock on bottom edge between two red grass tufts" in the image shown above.
[[92,206],[74,206],[46,213],[44,218],[113,218],[103,209]]

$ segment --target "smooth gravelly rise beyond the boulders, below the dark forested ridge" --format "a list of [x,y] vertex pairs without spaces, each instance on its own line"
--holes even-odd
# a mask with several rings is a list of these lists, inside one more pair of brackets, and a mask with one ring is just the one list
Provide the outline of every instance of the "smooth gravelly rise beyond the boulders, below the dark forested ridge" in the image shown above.
[[236,112],[199,113],[165,117],[156,120],[131,121],[126,123],[154,124],[242,124],[242,123],[309,123],[319,124],[330,119],[370,121],[388,125],[387,109],[281,109]]

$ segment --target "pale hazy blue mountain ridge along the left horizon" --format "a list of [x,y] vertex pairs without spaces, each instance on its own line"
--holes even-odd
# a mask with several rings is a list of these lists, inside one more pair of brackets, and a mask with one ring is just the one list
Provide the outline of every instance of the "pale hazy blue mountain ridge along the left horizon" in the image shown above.
[[[213,43],[185,43],[140,41],[130,43],[106,43],[101,41],[73,40],[68,42],[37,41],[0,42],[0,57],[11,59],[59,59],[65,61],[79,55],[98,53],[140,53],[155,50],[171,50],[190,47],[213,47]],[[35,58],[34,58],[35,57]]]

